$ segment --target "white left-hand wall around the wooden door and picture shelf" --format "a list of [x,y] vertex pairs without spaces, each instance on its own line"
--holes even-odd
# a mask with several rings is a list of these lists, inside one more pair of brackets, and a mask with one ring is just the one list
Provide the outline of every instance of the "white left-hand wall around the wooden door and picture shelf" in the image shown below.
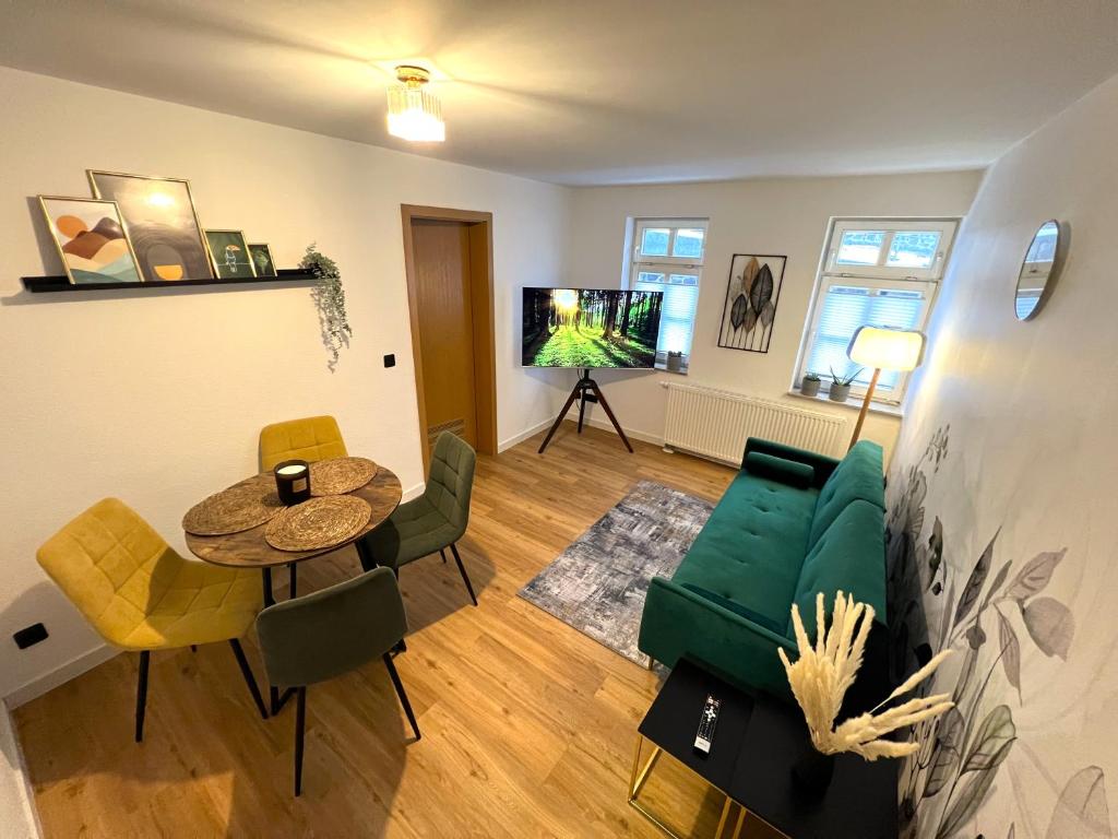
[[[184,549],[182,513],[255,471],[260,426],[319,413],[405,490],[420,484],[400,204],[494,214],[499,440],[561,404],[555,374],[519,367],[513,289],[562,276],[568,190],[11,69],[0,105],[0,696],[101,647],[35,562],[98,498]],[[341,266],[354,332],[337,373],[309,286],[22,291],[20,275],[61,273],[31,197],[88,196],[86,168],[190,179],[202,225],[271,243],[281,267],[316,242]],[[36,621],[50,638],[17,651],[7,639]]]

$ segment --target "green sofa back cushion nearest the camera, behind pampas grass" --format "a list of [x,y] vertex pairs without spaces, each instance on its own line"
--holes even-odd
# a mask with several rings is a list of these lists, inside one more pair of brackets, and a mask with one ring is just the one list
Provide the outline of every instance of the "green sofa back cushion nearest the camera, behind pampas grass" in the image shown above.
[[[813,641],[816,593],[823,592],[830,614],[840,590],[873,606],[877,619],[885,623],[884,521],[881,508],[869,501],[846,505],[804,559],[795,603]],[[787,626],[793,638],[790,614]]]

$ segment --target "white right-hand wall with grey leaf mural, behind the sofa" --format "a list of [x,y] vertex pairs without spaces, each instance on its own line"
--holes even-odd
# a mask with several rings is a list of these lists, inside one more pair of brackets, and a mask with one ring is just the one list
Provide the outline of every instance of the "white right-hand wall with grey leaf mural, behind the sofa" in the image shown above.
[[[931,648],[957,651],[931,689],[972,733],[958,752],[947,723],[918,733],[929,769],[909,764],[902,810],[920,837],[1114,836],[1116,136],[1118,77],[989,170],[915,383],[890,481],[890,609],[922,600]],[[1070,226],[1067,265],[1022,323],[1017,271],[1049,218]]]

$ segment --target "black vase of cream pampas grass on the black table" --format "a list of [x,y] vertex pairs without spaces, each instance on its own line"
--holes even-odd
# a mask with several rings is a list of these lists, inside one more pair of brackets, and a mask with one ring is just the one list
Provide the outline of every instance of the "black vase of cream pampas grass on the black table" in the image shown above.
[[[950,694],[916,697],[881,710],[893,699],[913,690],[931,676],[940,662],[950,654],[944,650],[904,680],[877,707],[865,714],[835,724],[843,698],[862,666],[865,642],[873,625],[873,606],[856,603],[853,595],[835,596],[831,626],[826,624],[823,592],[815,597],[815,643],[804,629],[799,609],[793,604],[792,623],[796,631],[799,658],[795,663],[778,649],[788,685],[796,703],[804,711],[814,748],[797,763],[794,775],[802,785],[822,789],[831,781],[834,755],[853,752],[868,761],[879,757],[904,757],[920,748],[917,742],[900,743],[885,739],[885,735],[923,719],[939,716],[955,704]],[[880,713],[879,713],[880,711]]]

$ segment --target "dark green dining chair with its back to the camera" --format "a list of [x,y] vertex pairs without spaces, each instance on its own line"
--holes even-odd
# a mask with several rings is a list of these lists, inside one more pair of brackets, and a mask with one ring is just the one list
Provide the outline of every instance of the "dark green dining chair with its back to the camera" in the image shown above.
[[376,568],[313,594],[276,603],[256,619],[268,679],[296,690],[296,795],[303,791],[307,685],[341,676],[379,656],[419,739],[411,704],[388,653],[405,632],[404,601],[389,568]]

